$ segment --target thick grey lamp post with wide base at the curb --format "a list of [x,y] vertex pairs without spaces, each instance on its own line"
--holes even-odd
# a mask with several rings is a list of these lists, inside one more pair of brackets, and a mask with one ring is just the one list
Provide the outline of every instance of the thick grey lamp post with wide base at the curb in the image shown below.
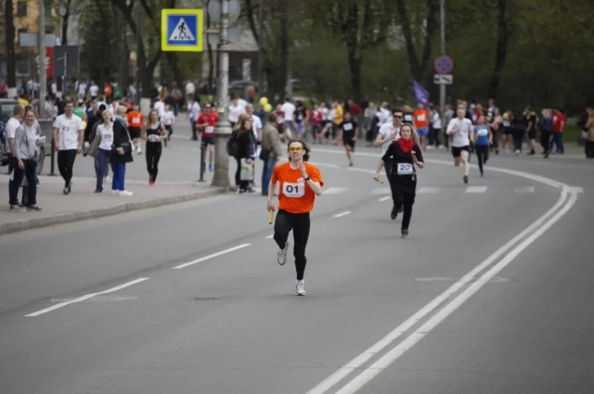
[[229,0],[221,0],[221,23],[219,40],[219,122],[214,131],[214,176],[212,186],[229,187],[229,155],[227,141],[231,135],[231,126],[227,119],[229,108]]

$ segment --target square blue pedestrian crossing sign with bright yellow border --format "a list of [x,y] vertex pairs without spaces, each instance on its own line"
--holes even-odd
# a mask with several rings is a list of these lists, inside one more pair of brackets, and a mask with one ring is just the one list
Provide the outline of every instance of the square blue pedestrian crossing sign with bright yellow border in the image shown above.
[[161,11],[161,50],[202,52],[203,12],[201,9]]

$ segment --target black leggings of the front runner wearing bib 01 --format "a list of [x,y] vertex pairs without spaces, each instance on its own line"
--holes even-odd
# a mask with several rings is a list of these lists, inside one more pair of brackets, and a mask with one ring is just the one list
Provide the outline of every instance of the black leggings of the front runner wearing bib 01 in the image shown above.
[[289,231],[293,230],[293,256],[295,256],[295,271],[297,280],[301,281],[305,272],[307,258],[305,257],[305,246],[309,238],[309,212],[305,214],[291,214],[279,209],[274,221],[274,240],[280,249],[284,249],[289,237]]

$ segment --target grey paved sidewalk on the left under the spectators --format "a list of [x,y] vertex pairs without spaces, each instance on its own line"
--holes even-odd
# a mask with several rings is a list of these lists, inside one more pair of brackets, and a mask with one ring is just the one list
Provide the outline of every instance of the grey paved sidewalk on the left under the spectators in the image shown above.
[[[94,178],[74,177],[72,193],[65,196],[62,194],[64,181],[61,177],[42,175],[39,177],[39,181],[37,204],[43,211],[10,212],[8,210],[8,176],[0,175],[0,196],[6,203],[0,204],[0,234],[175,204],[227,191],[224,188],[210,186],[210,182],[157,182],[156,188],[151,188],[147,182],[130,180],[127,182],[126,188],[134,192],[134,195],[119,197],[111,195],[109,181],[104,186],[103,193],[95,194]],[[21,195],[19,192],[19,199]]]

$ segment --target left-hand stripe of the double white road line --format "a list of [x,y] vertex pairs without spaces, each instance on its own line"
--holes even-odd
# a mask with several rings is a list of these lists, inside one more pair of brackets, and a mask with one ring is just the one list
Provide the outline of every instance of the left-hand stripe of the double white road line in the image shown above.
[[421,310],[410,316],[405,322],[400,324],[396,329],[392,332],[388,333],[388,335],[384,336],[384,338],[380,339],[380,341],[376,342],[370,348],[366,349],[357,357],[353,358],[353,360],[349,361],[349,363],[345,364],[342,368],[331,374],[329,377],[324,379],[320,382],[317,386],[312,388],[307,392],[307,394],[323,394],[326,393],[328,389],[336,385],[340,380],[342,380],[347,374],[351,371],[360,368],[364,363],[366,363],[371,357],[378,354],[384,348],[388,347],[391,342],[395,341],[399,338],[400,335],[405,333],[408,329],[410,329],[413,325],[415,325],[419,320],[423,319],[427,314],[431,313],[432,310],[436,309],[440,304],[444,303],[452,294],[456,293],[460,288],[466,285],[468,282],[472,281],[481,271],[491,265],[496,259],[498,259],[501,255],[503,255],[507,250],[511,249],[514,244],[522,240],[524,237],[532,234],[533,231],[538,229],[551,215],[554,214],[557,209],[564,204],[565,199],[567,197],[566,193],[561,193],[558,201],[555,205],[552,206],[551,209],[545,212],[538,220],[534,223],[529,225],[525,230],[521,233],[517,234],[513,239],[505,243],[499,249],[495,250],[491,256],[486,258],[482,263],[476,266],[472,271],[468,272],[464,277],[460,278],[459,281],[452,284],[447,290],[443,293],[438,295],[434,300],[426,304],[422,307]]

